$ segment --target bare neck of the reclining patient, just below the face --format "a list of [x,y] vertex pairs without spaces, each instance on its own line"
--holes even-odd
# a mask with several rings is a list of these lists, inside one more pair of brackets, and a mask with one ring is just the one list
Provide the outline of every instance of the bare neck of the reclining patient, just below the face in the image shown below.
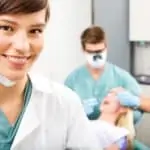
[[101,113],[101,116],[99,117],[99,119],[115,125],[115,123],[117,121],[117,117],[118,116],[116,114]]

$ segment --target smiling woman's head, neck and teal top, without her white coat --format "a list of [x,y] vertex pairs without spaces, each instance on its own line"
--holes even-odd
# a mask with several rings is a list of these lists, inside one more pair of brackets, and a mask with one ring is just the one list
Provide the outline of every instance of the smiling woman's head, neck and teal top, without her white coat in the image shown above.
[[10,149],[29,101],[28,70],[48,18],[47,0],[0,1],[0,149]]

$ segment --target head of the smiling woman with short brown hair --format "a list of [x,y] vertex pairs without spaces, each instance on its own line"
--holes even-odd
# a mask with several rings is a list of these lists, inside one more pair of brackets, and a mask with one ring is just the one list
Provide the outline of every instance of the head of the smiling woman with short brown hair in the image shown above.
[[17,81],[24,77],[43,47],[49,18],[46,0],[0,1],[0,74]]

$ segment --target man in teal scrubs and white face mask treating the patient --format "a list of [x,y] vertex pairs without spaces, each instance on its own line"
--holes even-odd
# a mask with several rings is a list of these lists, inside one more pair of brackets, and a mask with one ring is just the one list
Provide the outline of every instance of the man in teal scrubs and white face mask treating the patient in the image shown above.
[[[81,45],[86,64],[73,70],[66,78],[65,85],[80,96],[90,120],[100,115],[99,105],[112,89],[122,87],[135,96],[142,94],[140,86],[127,71],[107,61],[106,35],[101,27],[85,29],[81,34]],[[139,104],[132,99],[125,103],[127,107]],[[141,119],[142,114],[142,110],[135,109],[135,123]]]

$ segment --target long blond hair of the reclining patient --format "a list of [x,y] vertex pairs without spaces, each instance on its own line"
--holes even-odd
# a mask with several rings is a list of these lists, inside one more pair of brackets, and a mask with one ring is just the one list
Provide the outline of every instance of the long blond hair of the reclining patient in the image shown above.
[[129,131],[127,135],[128,148],[127,150],[133,150],[133,140],[135,138],[135,128],[133,120],[133,110],[127,108],[127,112],[121,114],[116,121],[116,126],[126,128]]

